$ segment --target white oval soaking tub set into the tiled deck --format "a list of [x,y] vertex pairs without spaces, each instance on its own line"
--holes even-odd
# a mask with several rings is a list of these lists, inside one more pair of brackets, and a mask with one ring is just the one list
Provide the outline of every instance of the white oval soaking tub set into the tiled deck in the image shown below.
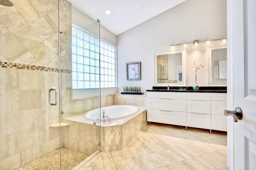
[[[98,108],[98,109],[89,111],[85,114],[85,118],[90,121],[96,121],[97,118],[100,118],[102,120],[102,109],[103,108],[105,109],[106,117],[110,117],[111,120],[121,119],[124,117],[131,116],[138,111],[138,108],[135,106],[114,105],[114,106],[107,106],[107,107],[102,107],[102,108]],[[100,117],[100,111],[101,111],[101,117]]]

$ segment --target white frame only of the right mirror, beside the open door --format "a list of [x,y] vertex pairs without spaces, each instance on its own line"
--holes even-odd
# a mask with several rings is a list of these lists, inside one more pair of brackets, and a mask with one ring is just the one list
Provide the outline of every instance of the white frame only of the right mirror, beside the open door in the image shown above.
[[212,49],[227,48],[227,45],[207,47],[208,53],[208,86],[227,86],[227,83],[212,83]]

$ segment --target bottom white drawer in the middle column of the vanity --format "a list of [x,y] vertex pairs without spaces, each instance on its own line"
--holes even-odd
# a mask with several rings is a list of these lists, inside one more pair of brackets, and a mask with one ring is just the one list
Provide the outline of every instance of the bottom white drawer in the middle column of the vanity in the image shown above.
[[187,113],[187,126],[210,129],[211,115],[188,112]]

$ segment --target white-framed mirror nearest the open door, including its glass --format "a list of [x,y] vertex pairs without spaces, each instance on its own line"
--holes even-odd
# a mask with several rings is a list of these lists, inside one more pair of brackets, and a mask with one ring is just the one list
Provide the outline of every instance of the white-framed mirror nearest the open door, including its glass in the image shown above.
[[208,47],[208,86],[227,85],[227,46]]

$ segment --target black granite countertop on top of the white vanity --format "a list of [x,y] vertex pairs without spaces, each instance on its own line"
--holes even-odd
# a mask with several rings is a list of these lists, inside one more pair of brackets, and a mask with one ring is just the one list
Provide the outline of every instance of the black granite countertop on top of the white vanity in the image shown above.
[[198,92],[198,93],[227,93],[227,87],[200,87],[199,90],[194,90],[193,87],[169,87],[153,86],[152,90],[146,91],[162,91],[162,92]]

